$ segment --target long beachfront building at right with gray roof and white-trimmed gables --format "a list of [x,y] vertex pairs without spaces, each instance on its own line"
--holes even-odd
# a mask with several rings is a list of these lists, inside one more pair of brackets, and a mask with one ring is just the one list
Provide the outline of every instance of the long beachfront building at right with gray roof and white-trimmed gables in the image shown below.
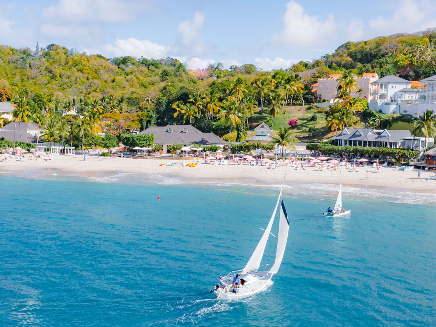
[[375,146],[388,148],[408,148],[425,150],[426,146],[433,145],[433,138],[412,136],[410,131],[404,129],[348,129],[332,137],[334,145],[349,146]]

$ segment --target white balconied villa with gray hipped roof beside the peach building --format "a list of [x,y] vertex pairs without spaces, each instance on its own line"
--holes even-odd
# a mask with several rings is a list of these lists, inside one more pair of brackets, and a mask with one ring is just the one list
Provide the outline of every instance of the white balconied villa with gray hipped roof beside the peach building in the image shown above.
[[369,109],[383,113],[405,113],[409,104],[418,99],[418,89],[412,89],[411,86],[412,81],[393,75],[371,82]]

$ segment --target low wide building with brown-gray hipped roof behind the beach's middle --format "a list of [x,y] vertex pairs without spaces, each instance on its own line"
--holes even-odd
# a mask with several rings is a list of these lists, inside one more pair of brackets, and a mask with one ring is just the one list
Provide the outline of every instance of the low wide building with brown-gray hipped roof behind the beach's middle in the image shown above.
[[161,145],[164,153],[167,153],[168,146],[174,143],[186,146],[191,143],[224,146],[227,143],[214,133],[203,133],[192,125],[151,126],[140,134],[154,134],[154,143]]

